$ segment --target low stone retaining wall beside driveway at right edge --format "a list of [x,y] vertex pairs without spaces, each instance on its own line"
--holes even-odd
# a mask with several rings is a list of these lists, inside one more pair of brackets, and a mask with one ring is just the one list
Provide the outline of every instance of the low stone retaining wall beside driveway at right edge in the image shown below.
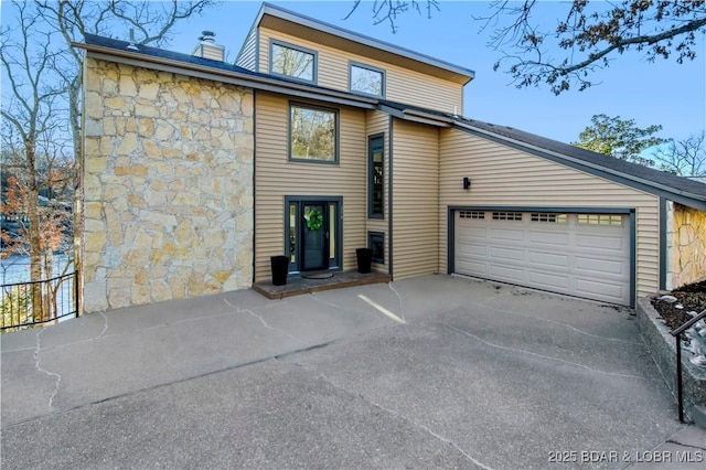
[[[649,298],[638,299],[638,329],[662,373],[676,402],[676,345],[670,329],[659,319],[657,311]],[[706,368],[697,367],[688,359],[691,353],[682,351],[682,384],[684,410],[693,416],[694,406],[706,406]]]

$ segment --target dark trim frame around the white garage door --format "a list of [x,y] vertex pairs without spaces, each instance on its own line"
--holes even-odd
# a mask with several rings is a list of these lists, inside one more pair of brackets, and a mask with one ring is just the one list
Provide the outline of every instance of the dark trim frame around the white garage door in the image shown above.
[[635,308],[637,289],[637,217],[634,207],[556,207],[526,205],[449,205],[447,211],[447,274],[456,270],[456,212],[457,211],[505,211],[505,212],[543,212],[561,214],[616,214],[627,215],[630,224],[630,308]]

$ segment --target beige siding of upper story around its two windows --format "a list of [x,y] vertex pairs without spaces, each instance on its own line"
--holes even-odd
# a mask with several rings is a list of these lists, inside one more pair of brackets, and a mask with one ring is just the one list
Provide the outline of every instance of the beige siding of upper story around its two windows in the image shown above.
[[453,113],[453,107],[456,106],[459,114],[463,111],[463,86],[460,84],[362,55],[343,52],[266,28],[259,29],[259,72],[269,73],[270,39],[317,51],[317,85],[319,86],[349,92],[349,65],[350,61],[353,61],[385,70],[386,99],[443,113]]

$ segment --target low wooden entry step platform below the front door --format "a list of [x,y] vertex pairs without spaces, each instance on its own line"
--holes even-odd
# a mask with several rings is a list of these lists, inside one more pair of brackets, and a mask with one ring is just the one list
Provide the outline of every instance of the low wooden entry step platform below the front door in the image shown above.
[[271,279],[253,284],[253,290],[261,293],[270,300],[284,299],[285,297],[301,296],[302,293],[319,292],[322,290],[342,289],[344,287],[365,286],[368,284],[387,284],[391,280],[388,274],[357,271],[329,271],[331,277],[321,279],[323,276],[289,275],[287,284],[275,286]]

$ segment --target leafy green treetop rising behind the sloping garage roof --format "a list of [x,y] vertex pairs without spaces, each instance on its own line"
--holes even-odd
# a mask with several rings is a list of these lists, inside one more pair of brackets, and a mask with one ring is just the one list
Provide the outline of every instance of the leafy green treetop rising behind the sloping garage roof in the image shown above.
[[667,141],[654,136],[660,130],[662,126],[659,125],[640,128],[634,119],[620,119],[620,116],[608,117],[601,114],[591,118],[591,125],[579,133],[580,140],[573,145],[620,160],[654,167],[654,160],[640,153]]

